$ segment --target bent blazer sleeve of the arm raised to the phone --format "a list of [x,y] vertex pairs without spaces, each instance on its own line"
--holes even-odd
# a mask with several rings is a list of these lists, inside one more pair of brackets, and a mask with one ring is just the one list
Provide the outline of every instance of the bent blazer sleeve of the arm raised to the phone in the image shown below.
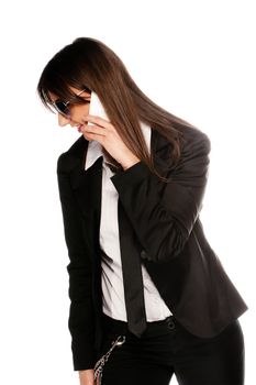
[[142,257],[163,263],[185,248],[201,210],[210,147],[209,138],[198,130],[183,144],[178,165],[165,175],[168,183],[142,161],[111,177],[144,248]]

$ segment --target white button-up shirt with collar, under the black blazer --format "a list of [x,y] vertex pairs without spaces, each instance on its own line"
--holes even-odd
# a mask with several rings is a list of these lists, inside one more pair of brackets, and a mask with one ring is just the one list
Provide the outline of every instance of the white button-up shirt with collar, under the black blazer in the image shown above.
[[[141,128],[151,151],[151,128],[144,123],[141,123]],[[114,173],[105,164],[107,160],[101,148],[101,144],[97,141],[88,143],[85,169],[88,169],[100,156],[103,156],[100,221],[100,246],[103,251],[101,258],[102,310],[111,318],[126,321],[118,223],[119,195],[111,180]],[[157,321],[170,316],[170,310],[160,297],[143,263],[142,276],[147,321]]]

